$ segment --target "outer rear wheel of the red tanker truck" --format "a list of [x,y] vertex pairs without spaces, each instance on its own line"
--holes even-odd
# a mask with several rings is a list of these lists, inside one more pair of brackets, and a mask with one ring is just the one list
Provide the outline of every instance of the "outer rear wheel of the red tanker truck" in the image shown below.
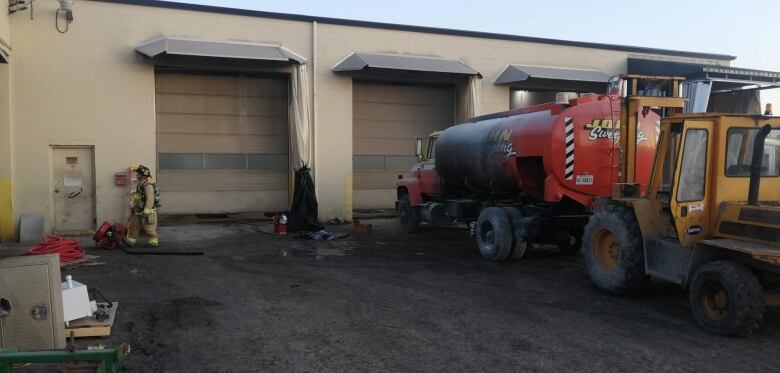
[[490,261],[506,259],[512,250],[512,225],[506,211],[488,207],[477,219],[477,245],[482,257]]

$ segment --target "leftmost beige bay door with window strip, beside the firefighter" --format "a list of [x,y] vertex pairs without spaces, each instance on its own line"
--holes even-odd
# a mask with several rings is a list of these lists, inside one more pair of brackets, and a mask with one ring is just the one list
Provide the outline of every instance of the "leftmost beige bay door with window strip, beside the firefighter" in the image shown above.
[[162,213],[281,211],[287,79],[156,75]]

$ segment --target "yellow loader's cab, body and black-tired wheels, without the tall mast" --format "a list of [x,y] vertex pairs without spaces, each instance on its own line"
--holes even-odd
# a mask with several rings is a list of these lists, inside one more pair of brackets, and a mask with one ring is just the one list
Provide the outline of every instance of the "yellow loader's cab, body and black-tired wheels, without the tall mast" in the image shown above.
[[651,277],[671,281],[689,290],[706,330],[756,330],[780,284],[780,118],[664,118],[647,193],[639,189],[615,184],[585,228],[595,286],[630,295]]

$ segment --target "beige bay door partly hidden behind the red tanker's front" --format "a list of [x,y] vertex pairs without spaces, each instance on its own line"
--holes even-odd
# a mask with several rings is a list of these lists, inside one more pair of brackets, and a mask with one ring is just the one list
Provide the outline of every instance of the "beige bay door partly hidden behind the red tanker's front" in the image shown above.
[[353,207],[391,208],[415,138],[453,124],[455,89],[355,82],[352,97]]

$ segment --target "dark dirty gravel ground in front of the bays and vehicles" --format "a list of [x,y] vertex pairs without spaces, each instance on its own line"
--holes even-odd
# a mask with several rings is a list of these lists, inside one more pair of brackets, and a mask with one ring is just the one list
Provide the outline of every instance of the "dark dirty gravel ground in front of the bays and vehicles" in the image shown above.
[[79,343],[129,343],[129,372],[780,371],[778,309],[750,338],[717,337],[673,285],[610,297],[578,256],[489,263],[465,230],[371,222],[333,242],[162,229],[165,248],[201,257],[91,251],[106,265],[63,275],[121,306],[111,337]]

